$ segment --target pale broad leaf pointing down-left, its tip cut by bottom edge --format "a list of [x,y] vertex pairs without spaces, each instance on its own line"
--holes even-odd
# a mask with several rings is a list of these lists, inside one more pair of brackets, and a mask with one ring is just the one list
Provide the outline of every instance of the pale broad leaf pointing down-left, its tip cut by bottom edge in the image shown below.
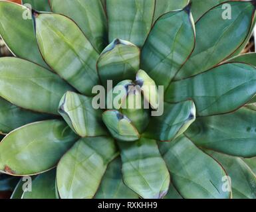
[[57,166],[57,187],[62,199],[92,198],[117,155],[114,140],[108,137],[82,138],[64,154]]

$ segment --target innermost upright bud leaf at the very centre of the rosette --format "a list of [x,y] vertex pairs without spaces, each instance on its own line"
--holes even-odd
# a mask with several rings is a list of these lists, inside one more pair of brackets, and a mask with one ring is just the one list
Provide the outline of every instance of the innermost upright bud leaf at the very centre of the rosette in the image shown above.
[[150,110],[144,109],[144,98],[138,89],[131,89],[120,111],[132,121],[138,132],[143,132],[150,121]]

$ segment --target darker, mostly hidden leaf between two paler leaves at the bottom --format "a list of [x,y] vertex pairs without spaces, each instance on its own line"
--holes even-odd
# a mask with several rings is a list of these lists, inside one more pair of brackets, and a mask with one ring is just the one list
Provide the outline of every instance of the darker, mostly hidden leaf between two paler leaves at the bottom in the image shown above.
[[106,170],[96,199],[138,199],[138,195],[122,181],[122,162],[120,158],[113,160]]

